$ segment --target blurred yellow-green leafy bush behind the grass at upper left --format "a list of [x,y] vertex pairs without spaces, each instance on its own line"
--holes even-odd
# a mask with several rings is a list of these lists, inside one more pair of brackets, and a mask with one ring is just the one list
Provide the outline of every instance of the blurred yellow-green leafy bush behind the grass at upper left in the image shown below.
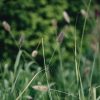
[[[70,4],[68,4],[68,1],[66,0],[29,0],[28,2],[27,0],[1,0],[0,2],[2,4],[2,6],[0,6],[1,22],[3,20],[8,21],[11,25],[12,33],[16,37],[17,41],[18,38],[20,38],[20,34],[23,33],[25,35],[23,47],[28,51],[37,46],[38,41],[41,41],[41,37],[45,38],[45,42],[49,43],[48,45],[53,44],[56,32],[62,31],[63,26],[67,25],[63,19],[63,11],[69,10]],[[71,12],[74,12],[74,10],[72,9]],[[52,20],[54,19],[58,23],[57,30],[52,25]],[[3,35],[1,36],[2,39],[4,38],[3,43],[5,47],[8,45],[14,47],[13,41],[9,38],[9,34],[6,35],[5,32],[1,32],[1,34]],[[6,38],[7,36],[8,38]],[[5,47],[3,48],[4,50]],[[13,50],[11,50],[12,48],[8,47],[8,49],[13,52]]]

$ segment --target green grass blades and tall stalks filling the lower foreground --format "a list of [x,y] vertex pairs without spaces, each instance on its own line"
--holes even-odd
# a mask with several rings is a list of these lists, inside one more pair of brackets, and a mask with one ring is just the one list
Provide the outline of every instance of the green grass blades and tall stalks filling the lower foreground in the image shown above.
[[[87,12],[89,12],[90,9],[91,0],[89,1],[89,5],[87,8]],[[42,56],[43,56],[43,64],[44,67],[41,68],[35,60],[31,57],[31,54],[26,52],[25,50],[22,50],[22,48],[18,47],[17,41],[15,40],[14,36],[12,38],[15,41],[16,46],[19,48],[18,54],[16,56],[16,61],[14,64],[14,71],[9,71],[7,64],[4,64],[4,72],[1,74],[1,83],[0,83],[0,98],[2,100],[27,100],[27,96],[30,96],[34,98],[34,100],[99,100],[100,99],[100,93],[98,88],[100,88],[99,82],[96,84],[93,84],[93,76],[95,74],[95,66],[96,61],[99,56],[99,43],[97,43],[97,51],[94,54],[92,67],[90,71],[90,75],[88,75],[89,78],[89,84],[86,83],[85,85],[89,87],[87,88],[87,91],[85,91],[84,86],[84,80],[82,78],[81,73],[81,58],[83,56],[82,54],[82,46],[84,42],[84,33],[86,28],[86,18],[83,24],[83,31],[82,31],[82,38],[80,42],[79,47],[79,53],[77,52],[78,49],[78,43],[77,43],[77,31],[76,31],[76,25],[77,21],[75,23],[75,35],[74,35],[74,66],[75,68],[65,69],[66,63],[63,61],[63,52],[60,48],[61,44],[59,42],[56,43],[56,47],[54,51],[51,54],[51,58],[49,60],[49,63],[47,64],[46,61],[46,54],[45,54],[45,41],[44,38],[42,38],[42,41],[39,45],[42,44]],[[12,34],[10,32],[10,34]],[[36,50],[38,50],[37,46]],[[50,74],[50,70],[53,69],[52,61],[55,57],[55,53],[58,52],[58,67],[56,69],[57,75],[52,76]],[[28,62],[25,57],[28,57],[30,61]],[[24,60],[24,62],[22,62]],[[52,66],[51,66],[52,64]],[[70,63],[71,64],[71,63]],[[35,70],[31,71],[30,67],[36,66]],[[55,65],[54,65],[55,66]],[[0,67],[1,68],[1,67]],[[2,69],[1,69],[2,70]],[[67,71],[67,72],[66,72]],[[66,72],[66,73],[65,73]],[[56,72],[54,72],[56,73]],[[84,75],[83,75],[84,76]],[[98,79],[100,81],[100,79]],[[54,83],[53,86],[51,84]],[[48,88],[48,91],[39,91],[34,90],[32,86],[34,85],[44,85]],[[2,88],[3,87],[3,88]]]

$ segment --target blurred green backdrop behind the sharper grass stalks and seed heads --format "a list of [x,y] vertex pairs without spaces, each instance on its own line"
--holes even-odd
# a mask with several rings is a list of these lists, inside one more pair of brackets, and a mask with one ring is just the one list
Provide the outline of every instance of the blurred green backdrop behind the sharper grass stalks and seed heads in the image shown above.
[[[14,75],[16,76],[20,72],[12,100],[15,100],[20,94],[32,75],[44,68],[42,38],[44,39],[46,64],[49,64],[49,82],[55,83],[55,89],[76,93],[78,85],[75,74],[75,35],[76,58],[80,61],[85,100],[89,100],[88,90],[92,66],[95,67],[91,84],[95,87],[100,85],[100,1],[92,0],[87,12],[89,2],[90,0],[0,0],[0,98],[2,100],[11,100],[9,91],[15,80]],[[3,21],[10,25],[10,33],[4,30]],[[56,39],[60,32],[64,33],[64,39],[57,46]],[[20,54],[18,55],[19,49],[11,34],[21,50],[26,52],[21,54],[21,57]],[[33,50],[37,50],[38,55],[31,59]],[[17,57],[19,57],[19,61],[16,59]],[[52,60],[50,60],[51,57]],[[14,67],[16,67],[15,62],[17,61],[18,66],[15,73]],[[60,66],[63,68],[60,69]],[[42,75],[44,74],[42,73],[40,76]],[[36,78],[33,84],[39,82],[39,84],[46,84],[45,78],[42,78]],[[47,94],[37,93],[31,87],[24,95],[22,100],[26,100],[27,95],[31,95],[34,100],[49,100]],[[97,88],[97,97],[99,95],[100,90]],[[57,98],[58,100],[78,100],[63,94],[57,96],[55,92],[52,97],[53,100],[57,100]]]

